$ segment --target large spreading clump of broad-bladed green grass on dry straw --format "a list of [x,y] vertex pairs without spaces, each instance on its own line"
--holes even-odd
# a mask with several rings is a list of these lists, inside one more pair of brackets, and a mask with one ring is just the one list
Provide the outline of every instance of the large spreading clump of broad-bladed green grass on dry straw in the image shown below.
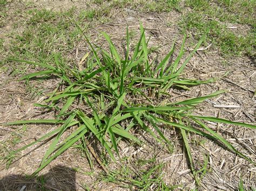
[[[62,124],[59,128],[43,135],[35,142],[11,152],[10,156],[14,156],[32,145],[53,137],[40,166],[33,173],[35,175],[77,142],[82,142],[84,149],[87,151],[86,153],[88,153],[87,147],[90,145],[90,141],[96,139],[108,153],[110,159],[116,161],[119,158],[118,143],[120,139],[127,139],[139,145],[145,144],[132,133],[132,129],[138,126],[141,131],[149,133],[157,142],[171,145],[170,140],[161,132],[161,128],[164,126],[165,128],[177,128],[180,130],[190,166],[198,185],[200,184],[198,172],[193,165],[187,132],[213,139],[240,157],[253,162],[246,155],[237,151],[218,133],[208,128],[205,121],[240,125],[252,129],[256,129],[255,125],[192,114],[197,104],[204,102],[207,98],[224,93],[224,90],[174,103],[157,101],[170,96],[169,91],[172,88],[187,89],[187,86],[197,86],[214,81],[214,79],[207,81],[184,79],[181,76],[186,64],[203,43],[207,32],[200,38],[194,50],[183,63],[180,64],[180,60],[185,53],[186,36],[183,39],[183,44],[176,60],[169,64],[169,60],[176,48],[173,44],[170,52],[157,66],[149,60],[148,41],[146,41],[142,25],[140,25],[140,32],[140,39],[134,48],[133,54],[131,54],[129,31],[128,29],[126,30],[126,54],[124,58],[118,53],[110,37],[105,32],[102,32],[102,34],[109,44],[109,51],[92,45],[87,37],[84,36],[91,50],[84,56],[85,67],[67,65],[59,58],[58,54],[55,54],[54,57],[55,65],[49,65],[45,62],[36,63],[9,59],[44,68],[40,72],[23,76],[23,80],[33,79],[37,76],[55,76],[60,81],[59,86],[44,101],[45,104],[37,104],[39,107],[55,110],[55,113],[57,113],[55,119],[16,121],[5,125],[29,123]],[[64,90],[60,90],[60,86],[64,87]],[[146,101],[136,104],[134,100],[129,99],[131,96],[142,96]],[[63,107],[57,107],[62,105],[59,103],[63,103]],[[74,109],[72,104],[78,106]],[[87,111],[88,108],[90,108],[89,111]],[[146,124],[150,124],[150,126]],[[70,136],[63,138],[64,132],[71,127],[73,127],[73,131]],[[7,158],[10,159],[10,156]],[[87,154],[87,157],[90,159],[89,154]]]

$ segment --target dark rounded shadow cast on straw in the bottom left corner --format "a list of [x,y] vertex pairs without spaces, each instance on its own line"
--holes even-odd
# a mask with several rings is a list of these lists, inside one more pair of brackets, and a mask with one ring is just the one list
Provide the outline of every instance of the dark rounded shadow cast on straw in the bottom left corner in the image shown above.
[[0,180],[0,190],[76,190],[76,172],[72,168],[58,165],[49,173],[35,178],[11,174]]

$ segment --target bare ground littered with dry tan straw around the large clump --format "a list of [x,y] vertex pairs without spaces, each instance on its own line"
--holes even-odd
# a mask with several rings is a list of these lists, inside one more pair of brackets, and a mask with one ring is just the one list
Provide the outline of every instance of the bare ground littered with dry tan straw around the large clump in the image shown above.
[[[13,3],[14,1],[12,1]],[[79,9],[86,7],[86,3],[78,1],[35,1],[36,8],[47,8],[52,10],[69,9],[71,6],[78,6]],[[13,3],[12,8],[22,6],[22,3]],[[35,7],[34,7],[35,8]],[[124,42],[124,31],[126,25],[129,29],[139,31],[139,22],[142,22],[146,29],[146,36],[152,35],[150,46],[163,45],[158,53],[164,56],[170,49],[173,40],[177,38],[177,46],[180,46],[183,36],[179,34],[179,26],[177,22],[180,13],[171,11],[169,13],[139,13],[136,10],[117,9],[113,11],[112,21],[106,24],[96,25],[90,29],[94,43],[102,44],[102,39],[97,38],[99,31],[106,31],[110,34],[115,45],[122,45]],[[0,35],[8,38],[6,34],[12,31],[11,25],[2,26]],[[138,37],[134,37],[136,41]],[[190,39],[193,41],[193,39]],[[122,47],[119,47],[122,49]],[[186,45],[191,49],[192,46]],[[202,49],[206,48],[203,47]],[[68,56],[74,60],[80,60],[86,52],[84,41],[79,42],[77,48]],[[0,59],[5,59],[6,55],[2,55]],[[152,55],[153,59],[153,55]],[[225,61],[225,65],[224,65]],[[206,50],[198,51],[193,56],[186,67],[186,77],[193,79],[206,80],[209,77],[223,76],[227,71],[230,73],[218,80],[217,82],[193,87],[190,91],[173,91],[172,100],[181,100],[184,97],[193,97],[199,95],[207,95],[214,90],[227,89],[228,93],[208,100],[206,103],[199,105],[198,114],[205,116],[219,116],[221,118],[231,119],[237,122],[255,123],[255,62],[247,57],[240,58],[223,58],[216,49],[208,47]],[[42,111],[33,106],[33,103],[40,103],[44,96],[33,96],[26,93],[25,85],[22,81],[18,81],[19,76],[9,75],[9,70],[0,70],[0,123],[10,122],[21,119],[33,118],[52,118],[54,114],[42,114]],[[41,84],[45,89],[54,89],[58,81],[52,79]],[[171,101],[172,101],[171,100]],[[237,108],[218,108],[216,105],[237,105]],[[242,128],[233,125],[209,123],[213,130],[217,130],[228,142],[240,152],[245,153],[255,161],[255,140],[256,133],[252,129]],[[217,128],[216,128],[217,126]],[[8,150],[19,148],[30,143],[56,126],[51,125],[26,125],[24,126],[0,126],[1,155],[4,156]],[[25,133],[25,134],[24,134]],[[120,144],[120,155],[128,157],[125,165],[133,167],[138,159],[150,159],[156,156],[156,162],[163,162],[164,168],[161,175],[167,185],[180,185],[177,189],[195,189],[196,182],[190,168],[187,165],[183,144],[180,136],[176,131],[166,129],[164,132],[173,143],[173,153],[169,154],[161,145],[157,145],[153,140],[147,140],[147,135],[143,139],[147,140],[149,145],[142,148],[134,148],[125,143]],[[9,142],[14,141],[17,137],[17,144],[10,147]],[[26,135],[26,136],[23,136]],[[190,135],[192,156],[198,168],[204,164],[205,157],[208,154],[208,172],[201,180],[201,189],[206,190],[233,190],[238,188],[240,176],[244,181],[244,187],[255,188],[256,168],[248,161],[241,159],[234,153],[227,151],[225,148],[212,142],[211,140],[200,138],[193,134]],[[0,190],[33,190],[45,189],[50,190],[84,190],[86,188],[92,190],[121,190],[124,189],[115,183],[106,182],[98,178],[103,171],[95,162],[95,169],[91,173],[90,166],[76,148],[65,151],[59,158],[51,162],[40,174],[44,175],[44,179],[28,179],[26,174],[35,171],[43,158],[44,152],[49,143],[43,144],[41,147],[32,146],[29,150],[21,153],[24,155],[11,164],[6,169],[6,163],[0,164]],[[156,145],[156,146],[154,146]],[[96,145],[95,145],[96,147]],[[33,152],[30,152],[32,151]],[[117,164],[110,164],[110,169],[118,169],[124,164],[118,161]],[[35,186],[37,185],[37,186]],[[39,186],[38,186],[39,185]],[[40,186],[41,185],[41,186]]]

